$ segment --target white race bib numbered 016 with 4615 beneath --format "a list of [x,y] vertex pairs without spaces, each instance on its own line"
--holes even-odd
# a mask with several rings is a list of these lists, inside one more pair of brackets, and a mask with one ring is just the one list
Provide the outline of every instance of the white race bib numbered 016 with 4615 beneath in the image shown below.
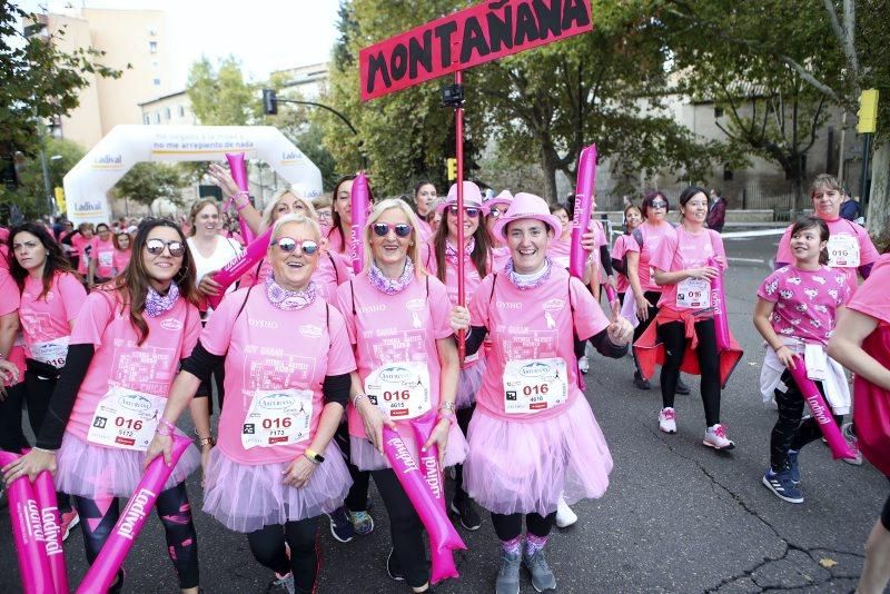
[[426,363],[383,365],[365,378],[365,394],[389,418],[416,418],[431,408],[429,368]]

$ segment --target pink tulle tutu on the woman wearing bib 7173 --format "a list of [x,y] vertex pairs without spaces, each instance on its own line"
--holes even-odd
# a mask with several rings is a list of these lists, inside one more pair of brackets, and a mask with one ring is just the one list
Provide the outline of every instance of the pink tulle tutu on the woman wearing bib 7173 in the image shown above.
[[205,477],[204,511],[243,533],[333,512],[343,505],[353,479],[333,439],[324,456],[309,482],[296,488],[281,482],[290,461],[241,464],[215,447]]

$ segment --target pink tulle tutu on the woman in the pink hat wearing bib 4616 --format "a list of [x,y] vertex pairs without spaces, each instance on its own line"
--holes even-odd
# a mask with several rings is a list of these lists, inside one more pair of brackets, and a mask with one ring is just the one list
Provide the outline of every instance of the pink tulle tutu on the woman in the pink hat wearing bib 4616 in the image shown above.
[[504,420],[476,408],[467,439],[464,488],[496,514],[543,516],[556,511],[560,495],[573,504],[609,486],[612,455],[584,398],[541,422]]

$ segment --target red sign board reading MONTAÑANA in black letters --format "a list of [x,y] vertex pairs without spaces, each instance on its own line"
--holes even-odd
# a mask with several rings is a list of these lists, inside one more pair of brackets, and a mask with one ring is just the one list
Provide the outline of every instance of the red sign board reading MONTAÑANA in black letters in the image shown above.
[[359,52],[362,100],[593,30],[591,0],[491,0]]

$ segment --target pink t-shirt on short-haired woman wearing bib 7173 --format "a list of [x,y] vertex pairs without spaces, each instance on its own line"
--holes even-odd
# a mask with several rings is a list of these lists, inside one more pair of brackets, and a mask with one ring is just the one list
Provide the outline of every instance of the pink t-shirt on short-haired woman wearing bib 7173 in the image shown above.
[[[353,349],[343,316],[324,300],[285,311],[271,305],[265,291],[253,290],[239,316],[247,290],[238,289],[222,299],[200,336],[201,346],[209,353],[226,355],[226,399],[218,446],[241,464],[287,462],[303,455],[318,428],[325,407],[325,377],[355,370]],[[256,390],[285,389],[312,392],[307,438],[246,449],[241,430]]]

